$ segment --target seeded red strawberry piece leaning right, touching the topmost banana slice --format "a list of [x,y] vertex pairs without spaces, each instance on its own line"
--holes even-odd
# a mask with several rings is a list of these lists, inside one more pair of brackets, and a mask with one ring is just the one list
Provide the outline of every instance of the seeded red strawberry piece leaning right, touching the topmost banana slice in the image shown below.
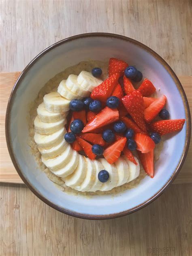
[[117,81],[119,74],[115,73],[98,85],[91,93],[92,99],[98,99],[99,101],[106,101],[110,97]]

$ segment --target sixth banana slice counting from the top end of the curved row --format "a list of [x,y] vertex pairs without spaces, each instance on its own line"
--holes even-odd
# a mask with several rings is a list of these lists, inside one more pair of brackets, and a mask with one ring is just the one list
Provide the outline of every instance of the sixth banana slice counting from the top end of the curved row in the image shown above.
[[39,116],[36,116],[34,120],[34,126],[35,126],[35,131],[40,134],[52,134],[55,131],[60,130],[64,125],[66,124],[67,120],[66,119],[61,119],[58,122],[55,123],[43,123]]

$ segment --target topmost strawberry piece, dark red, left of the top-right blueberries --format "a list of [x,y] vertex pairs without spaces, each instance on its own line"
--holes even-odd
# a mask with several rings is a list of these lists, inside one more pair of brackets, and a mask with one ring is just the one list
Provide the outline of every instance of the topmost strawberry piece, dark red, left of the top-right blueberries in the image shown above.
[[119,73],[120,76],[124,74],[124,71],[128,67],[128,64],[123,60],[118,60],[116,58],[109,59],[109,76]]

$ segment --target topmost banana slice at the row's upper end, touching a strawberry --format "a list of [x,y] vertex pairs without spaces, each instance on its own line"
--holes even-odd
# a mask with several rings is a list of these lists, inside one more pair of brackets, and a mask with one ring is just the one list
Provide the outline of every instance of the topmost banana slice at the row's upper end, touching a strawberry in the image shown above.
[[82,88],[88,90],[89,92],[92,92],[92,90],[103,81],[94,77],[90,72],[81,71],[81,73],[77,77],[77,82]]

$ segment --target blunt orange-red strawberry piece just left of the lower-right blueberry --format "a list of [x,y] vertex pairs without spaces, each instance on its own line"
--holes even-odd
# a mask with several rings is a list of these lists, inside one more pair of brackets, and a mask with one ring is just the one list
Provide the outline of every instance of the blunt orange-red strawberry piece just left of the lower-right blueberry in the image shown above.
[[142,153],[148,153],[155,148],[155,142],[147,135],[143,133],[136,133],[134,140],[137,143],[137,150]]

